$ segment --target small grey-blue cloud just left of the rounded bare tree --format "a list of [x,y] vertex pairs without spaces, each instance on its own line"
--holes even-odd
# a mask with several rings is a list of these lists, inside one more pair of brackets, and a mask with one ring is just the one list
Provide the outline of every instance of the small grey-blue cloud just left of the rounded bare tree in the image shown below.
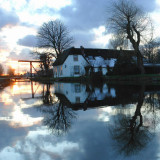
[[27,35],[24,38],[19,39],[17,44],[21,46],[26,46],[26,47],[36,47],[37,39],[36,39],[36,36],[34,35]]

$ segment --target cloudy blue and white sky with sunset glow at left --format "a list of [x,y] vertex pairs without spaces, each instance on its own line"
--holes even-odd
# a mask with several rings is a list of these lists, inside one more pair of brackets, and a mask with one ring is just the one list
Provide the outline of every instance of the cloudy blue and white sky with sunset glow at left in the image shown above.
[[[39,27],[56,19],[68,27],[73,46],[107,48],[111,35],[105,29],[106,8],[111,1],[0,0],[0,63],[16,68],[15,61],[33,59],[30,52],[36,46]],[[160,0],[135,1],[151,16],[155,35],[160,36]]]

